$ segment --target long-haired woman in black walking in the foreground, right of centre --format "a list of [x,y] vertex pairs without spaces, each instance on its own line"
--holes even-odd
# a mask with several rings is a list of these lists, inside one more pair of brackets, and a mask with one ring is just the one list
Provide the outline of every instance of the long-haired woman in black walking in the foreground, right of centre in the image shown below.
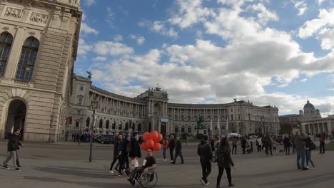
[[228,187],[233,187],[231,177],[231,166],[234,168],[234,163],[231,159],[231,147],[226,140],[226,137],[221,139],[221,145],[217,152],[217,164],[218,164],[218,177],[217,177],[217,188],[220,188],[221,185],[221,177],[223,176],[224,169],[226,170],[226,174],[228,177]]

